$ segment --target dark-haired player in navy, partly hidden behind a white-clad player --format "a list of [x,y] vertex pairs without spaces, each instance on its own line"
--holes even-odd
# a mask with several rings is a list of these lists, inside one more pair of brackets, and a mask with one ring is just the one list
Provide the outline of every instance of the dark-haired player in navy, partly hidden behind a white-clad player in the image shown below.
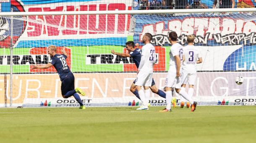
[[[139,49],[139,44],[136,43],[134,47],[134,42],[133,41],[128,41],[125,43],[126,44],[126,49],[128,50],[128,53],[118,53],[115,52],[114,50],[111,50],[112,54],[118,55],[120,57],[132,57],[133,58],[133,62],[135,62],[136,67],[138,68],[140,61],[141,61],[141,49]],[[155,94],[158,94],[159,96],[165,98],[165,92],[159,90],[154,82],[154,79],[152,79],[152,83],[151,86],[149,87],[151,89],[151,91]],[[131,87],[130,87],[130,91],[138,98],[141,100],[140,96],[138,95],[138,90],[136,89],[135,86],[135,81],[133,81]]]

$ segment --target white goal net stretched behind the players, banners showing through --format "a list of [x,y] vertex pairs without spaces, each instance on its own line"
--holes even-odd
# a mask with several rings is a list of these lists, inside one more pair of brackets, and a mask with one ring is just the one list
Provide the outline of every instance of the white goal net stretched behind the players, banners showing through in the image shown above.
[[[118,9],[115,6],[120,5],[101,8]],[[156,87],[163,91],[169,69],[171,44],[167,33],[170,31],[176,31],[183,46],[187,45],[187,35],[196,36],[194,44],[203,62],[197,65],[193,100],[199,105],[256,104],[256,15],[253,12],[183,10],[180,14],[178,10],[131,10],[130,6],[126,5],[123,12],[86,13],[83,10],[98,9],[76,5],[80,11],[73,13],[66,13],[67,9],[35,8],[13,18],[6,13],[1,16],[0,106],[79,106],[73,97],[62,97],[61,81],[54,67],[31,70],[34,64],[50,61],[49,45],[57,46],[57,53],[65,47],[75,87],[85,91],[86,96],[81,99],[87,107],[140,106],[141,101],[130,91],[136,78],[136,65],[129,57],[111,54],[111,50],[128,53],[127,41],[134,41],[141,48],[142,36],[151,33],[158,59],[153,78]],[[49,15],[44,11],[62,11],[63,15],[54,12]],[[243,77],[243,84],[235,83],[237,76]],[[179,105],[180,96],[174,96]],[[166,105],[165,99],[154,93],[149,103]]]

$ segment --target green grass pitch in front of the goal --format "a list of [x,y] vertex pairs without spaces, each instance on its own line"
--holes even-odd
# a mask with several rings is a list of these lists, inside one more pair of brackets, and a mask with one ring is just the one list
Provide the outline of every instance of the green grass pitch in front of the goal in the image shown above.
[[256,106],[1,108],[0,143],[255,143]]

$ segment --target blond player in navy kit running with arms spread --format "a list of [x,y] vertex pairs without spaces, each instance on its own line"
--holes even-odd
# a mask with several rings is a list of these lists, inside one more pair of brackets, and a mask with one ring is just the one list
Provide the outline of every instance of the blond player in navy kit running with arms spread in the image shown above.
[[79,87],[75,89],[75,77],[67,65],[66,59],[68,54],[65,52],[65,47],[62,47],[62,54],[57,54],[57,48],[54,45],[50,45],[48,47],[48,54],[51,57],[48,64],[32,65],[31,69],[50,68],[53,65],[60,76],[61,94],[63,98],[74,96],[76,101],[80,104],[79,109],[85,109],[83,102],[77,94],[79,93],[85,96],[85,93]]

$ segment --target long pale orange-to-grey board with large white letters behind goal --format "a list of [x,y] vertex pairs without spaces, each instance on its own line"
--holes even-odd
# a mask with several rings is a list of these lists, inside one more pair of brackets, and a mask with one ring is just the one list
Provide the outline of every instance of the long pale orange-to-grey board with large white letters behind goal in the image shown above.
[[[225,101],[229,101],[230,104],[243,104],[243,102],[254,103],[256,73],[240,72],[239,75],[244,78],[242,85],[237,85],[235,83],[235,76],[237,74],[238,73],[236,72],[198,73],[196,85],[194,86],[195,91],[192,98],[199,101],[199,104],[201,105],[215,103],[217,105],[218,102],[223,101],[223,99]],[[132,101],[135,100],[136,102],[138,100],[130,92],[130,86],[136,78],[136,73],[75,73],[74,75],[75,87],[80,87],[85,91],[86,98],[92,99],[92,102],[90,103],[93,103],[94,98],[98,99],[98,103],[102,106],[110,106],[112,101],[116,101],[116,105],[125,104],[127,103],[127,100],[122,98],[126,97],[129,98],[129,101],[130,99],[132,99]],[[157,88],[163,90],[166,75],[167,73],[153,74]],[[6,81],[7,101],[5,101],[4,98],[1,98],[0,106],[4,106],[5,102],[8,103],[10,99],[9,75],[7,75],[6,78],[8,79]],[[0,75],[1,95],[5,95],[5,91],[3,89],[4,84],[4,75]],[[29,101],[39,101],[39,99],[50,100],[55,98],[63,99],[61,96],[60,86],[61,81],[57,74],[37,74],[36,76],[31,76],[31,74],[14,75],[13,88],[15,90],[13,90],[13,104],[22,105],[25,101],[24,99],[31,99]],[[157,94],[153,93],[150,97],[159,98]],[[176,97],[177,99],[180,98],[179,96]],[[246,99],[248,100],[246,101]],[[40,101],[43,102],[43,100]],[[114,106],[115,103],[112,103],[112,105]],[[97,106],[99,106],[99,104],[97,104]],[[96,106],[96,104],[94,105]]]

